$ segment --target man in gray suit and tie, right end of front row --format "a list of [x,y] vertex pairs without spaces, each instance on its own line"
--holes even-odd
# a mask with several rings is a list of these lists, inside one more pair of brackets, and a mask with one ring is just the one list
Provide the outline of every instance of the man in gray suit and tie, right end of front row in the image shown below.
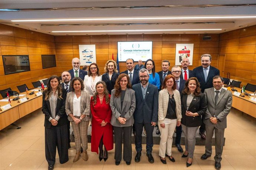
[[224,90],[224,84],[221,76],[213,77],[213,88],[205,89],[207,110],[204,114],[204,123],[206,125],[205,154],[201,159],[206,160],[211,156],[211,141],[213,133],[215,134],[215,169],[220,169],[221,155],[224,143],[224,130],[227,128],[227,115],[232,107],[232,93]]

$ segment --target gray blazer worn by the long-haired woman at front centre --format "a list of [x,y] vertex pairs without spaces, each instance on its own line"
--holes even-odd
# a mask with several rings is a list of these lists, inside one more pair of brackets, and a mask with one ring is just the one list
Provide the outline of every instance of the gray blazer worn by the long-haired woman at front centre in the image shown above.
[[[115,89],[111,91],[110,106],[112,110],[111,125],[116,127],[127,127],[134,123],[133,112],[135,110],[135,92],[127,88],[125,91],[124,102],[121,108],[121,97],[115,97]],[[125,124],[121,124],[118,118],[122,115],[127,119]]]

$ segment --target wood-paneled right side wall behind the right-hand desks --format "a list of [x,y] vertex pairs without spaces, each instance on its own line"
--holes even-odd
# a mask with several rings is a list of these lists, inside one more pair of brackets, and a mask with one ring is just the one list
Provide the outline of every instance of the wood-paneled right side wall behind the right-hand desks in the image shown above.
[[226,54],[224,77],[256,84],[256,26],[220,34],[219,54]]

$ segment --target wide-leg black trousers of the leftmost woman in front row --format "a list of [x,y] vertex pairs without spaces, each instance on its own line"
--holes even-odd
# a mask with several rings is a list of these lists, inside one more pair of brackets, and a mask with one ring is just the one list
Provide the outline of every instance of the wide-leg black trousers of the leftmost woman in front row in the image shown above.
[[55,164],[56,147],[60,163],[68,162],[67,125],[45,128],[45,157],[49,165]]

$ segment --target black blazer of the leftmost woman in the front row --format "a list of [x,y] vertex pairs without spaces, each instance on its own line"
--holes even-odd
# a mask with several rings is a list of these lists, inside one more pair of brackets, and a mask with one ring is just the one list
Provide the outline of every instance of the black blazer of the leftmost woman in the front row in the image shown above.
[[[56,113],[55,115],[59,116],[60,119],[58,120],[58,124],[56,126],[62,126],[67,124],[68,116],[65,112],[65,102],[66,102],[66,90],[62,89],[62,99],[57,99],[57,105],[56,105]],[[49,118],[52,117],[51,107],[49,100],[45,100],[45,92],[43,92],[43,106],[42,106],[42,112],[45,114],[45,128],[50,129],[52,128],[52,123],[49,121]]]

